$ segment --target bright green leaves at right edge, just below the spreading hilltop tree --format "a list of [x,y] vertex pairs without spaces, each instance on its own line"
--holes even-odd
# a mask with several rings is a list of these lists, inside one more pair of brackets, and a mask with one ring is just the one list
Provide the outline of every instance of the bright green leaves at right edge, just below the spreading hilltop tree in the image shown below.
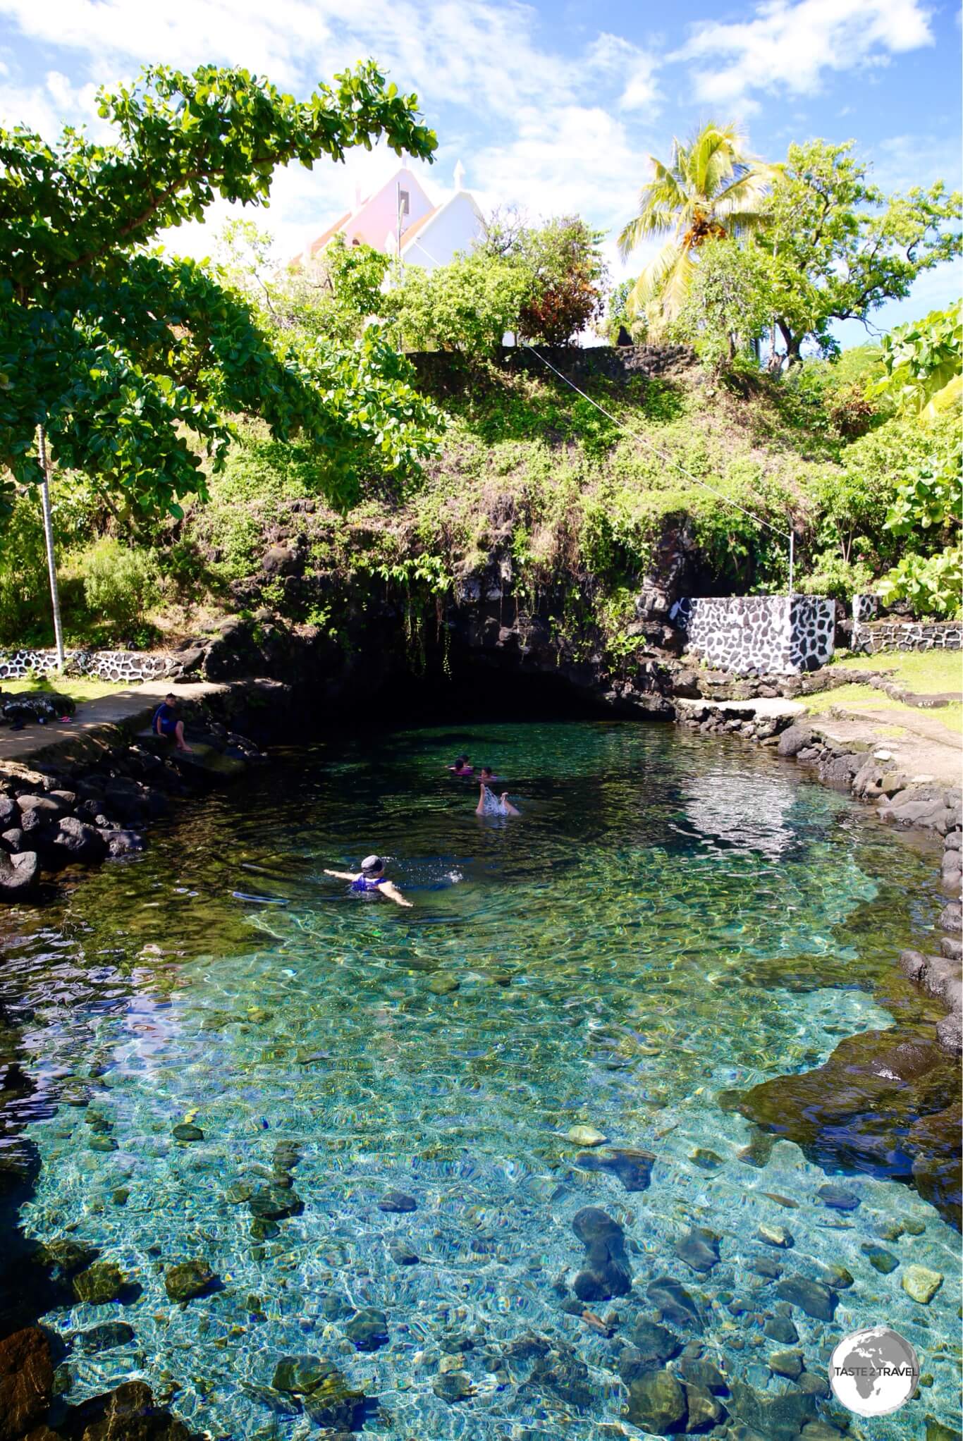
[[963,398],[963,301],[898,326],[882,340],[885,375],[871,395],[887,395],[901,415],[933,421]]

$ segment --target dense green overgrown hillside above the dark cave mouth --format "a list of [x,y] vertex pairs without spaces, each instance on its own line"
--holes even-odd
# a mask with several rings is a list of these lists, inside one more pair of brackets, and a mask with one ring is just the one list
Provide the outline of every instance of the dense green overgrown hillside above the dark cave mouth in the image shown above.
[[[845,599],[895,562],[887,512],[953,428],[874,412],[869,350],[737,389],[688,360],[654,378],[580,378],[614,419],[548,369],[427,359],[422,386],[447,418],[437,454],[401,491],[370,484],[347,514],[320,499],[323,452],[245,422],[209,501],[183,520],[136,533],[89,484],[59,477],[68,638],[143,644],[264,604],[337,630],[366,594],[418,611],[497,565],[556,625],[600,628],[618,651],[634,644],[643,581],[679,553],[704,591],[783,588],[790,525],[797,585]],[[12,539],[27,563],[0,574],[0,638],[49,641],[26,500]]]

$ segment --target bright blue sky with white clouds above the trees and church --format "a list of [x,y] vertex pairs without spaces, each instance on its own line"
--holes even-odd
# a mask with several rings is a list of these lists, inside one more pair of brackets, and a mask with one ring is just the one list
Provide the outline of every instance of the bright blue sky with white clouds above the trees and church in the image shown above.
[[[418,94],[437,131],[430,193],[456,163],[487,213],[580,213],[607,232],[613,278],[637,274],[614,236],[633,215],[649,156],[705,120],[737,121],[768,160],[791,141],[853,140],[887,190],[960,184],[960,12],[924,0],[0,0],[0,124],[55,138],[65,122],[102,134],[94,97],[147,63],[244,65],[304,98],[373,58]],[[278,171],[271,206],[248,209],[278,258],[349,209],[398,161],[376,148],[345,166]],[[226,206],[185,226],[170,248],[210,254]],[[915,318],[959,295],[959,267],[920,278],[874,327]],[[859,344],[858,323],[839,329]]]

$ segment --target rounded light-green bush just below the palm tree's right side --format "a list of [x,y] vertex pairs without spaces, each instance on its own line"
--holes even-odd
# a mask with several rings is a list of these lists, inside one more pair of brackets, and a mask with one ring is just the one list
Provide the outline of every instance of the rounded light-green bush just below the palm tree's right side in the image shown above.
[[773,314],[768,267],[754,246],[709,239],[699,251],[685,300],[672,327],[695,346],[711,370],[745,357]]

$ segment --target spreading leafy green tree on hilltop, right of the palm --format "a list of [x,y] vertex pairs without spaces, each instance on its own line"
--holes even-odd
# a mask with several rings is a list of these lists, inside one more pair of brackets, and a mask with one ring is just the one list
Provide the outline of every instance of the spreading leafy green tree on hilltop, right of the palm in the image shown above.
[[960,254],[960,196],[943,182],[887,196],[853,143],[790,146],[757,242],[770,254],[781,362],[810,342],[838,354],[833,321],[862,320],[902,300],[924,271]]

